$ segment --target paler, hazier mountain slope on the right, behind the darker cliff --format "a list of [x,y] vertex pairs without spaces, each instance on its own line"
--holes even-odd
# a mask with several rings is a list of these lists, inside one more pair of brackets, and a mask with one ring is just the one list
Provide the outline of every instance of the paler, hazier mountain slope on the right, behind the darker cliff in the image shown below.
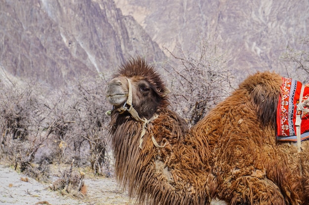
[[[160,48],[174,54],[196,50],[206,38],[225,53],[239,74],[292,72],[278,59],[308,36],[308,0],[115,0]],[[308,48],[302,48],[308,49]]]

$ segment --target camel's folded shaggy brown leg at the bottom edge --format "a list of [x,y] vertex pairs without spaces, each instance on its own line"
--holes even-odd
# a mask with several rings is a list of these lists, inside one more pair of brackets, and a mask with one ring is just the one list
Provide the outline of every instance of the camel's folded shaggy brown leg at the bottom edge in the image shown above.
[[231,205],[285,205],[280,189],[267,178],[242,176],[232,182]]

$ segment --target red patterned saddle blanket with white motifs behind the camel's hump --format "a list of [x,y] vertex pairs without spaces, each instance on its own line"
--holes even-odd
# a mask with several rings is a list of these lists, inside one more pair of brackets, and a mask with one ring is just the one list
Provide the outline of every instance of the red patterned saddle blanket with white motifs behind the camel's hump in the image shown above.
[[[281,96],[277,106],[277,140],[294,141],[296,137],[296,114],[297,105],[300,101],[302,83],[290,78],[282,78]],[[303,99],[309,98],[309,84],[305,85]],[[309,113],[302,112],[301,140],[309,138]]]

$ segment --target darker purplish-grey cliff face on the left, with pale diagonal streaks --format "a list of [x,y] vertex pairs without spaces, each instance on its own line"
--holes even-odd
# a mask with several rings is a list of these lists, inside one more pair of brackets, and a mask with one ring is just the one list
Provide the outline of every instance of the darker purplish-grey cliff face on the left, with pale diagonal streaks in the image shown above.
[[113,0],[0,0],[2,72],[52,87],[163,52]]

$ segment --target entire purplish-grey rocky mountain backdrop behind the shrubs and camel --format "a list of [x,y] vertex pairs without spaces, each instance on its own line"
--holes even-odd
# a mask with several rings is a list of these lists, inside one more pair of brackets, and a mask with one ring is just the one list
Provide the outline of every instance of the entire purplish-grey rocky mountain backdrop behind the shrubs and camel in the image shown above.
[[239,78],[290,75],[279,58],[308,27],[307,0],[0,0],[0,73],[59,87],[136,55],[194,53],[204,38]]

